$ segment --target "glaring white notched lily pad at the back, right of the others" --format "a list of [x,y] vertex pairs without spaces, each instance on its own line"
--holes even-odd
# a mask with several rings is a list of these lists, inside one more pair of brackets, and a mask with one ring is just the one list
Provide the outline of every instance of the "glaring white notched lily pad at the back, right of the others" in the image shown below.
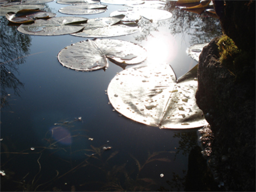
[[173,16],[168,11],[162,9],[154,9],[154,8],[126,8],[119,9],[110,13],[110,17],[116,16],[118,14],[125,14],[125,18],[122,21],[130,22],[130,21],[138,21],[141,17],[144,17],[149,20],[165,20],[169,19]]

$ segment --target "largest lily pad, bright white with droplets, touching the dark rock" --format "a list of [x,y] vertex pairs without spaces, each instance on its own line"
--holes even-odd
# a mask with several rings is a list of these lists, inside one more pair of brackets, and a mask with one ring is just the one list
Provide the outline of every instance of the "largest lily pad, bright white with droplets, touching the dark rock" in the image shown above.
[[196,105],[196,69],[176,83],[168,64],[138,65],[123,70],[107,88],[117,112],[136,122],[160,128],[188,129],[207,124]]

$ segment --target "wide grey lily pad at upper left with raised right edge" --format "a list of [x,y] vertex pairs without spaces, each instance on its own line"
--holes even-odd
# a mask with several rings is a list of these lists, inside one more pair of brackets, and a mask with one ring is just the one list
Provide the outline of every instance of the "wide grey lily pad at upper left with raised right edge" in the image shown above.
[[83,17],[53,17],[50,19],[37,19],[32,24],[22,24],[18,27],[21,33],[35,36],[58,36],[82,31],[87,19]]

